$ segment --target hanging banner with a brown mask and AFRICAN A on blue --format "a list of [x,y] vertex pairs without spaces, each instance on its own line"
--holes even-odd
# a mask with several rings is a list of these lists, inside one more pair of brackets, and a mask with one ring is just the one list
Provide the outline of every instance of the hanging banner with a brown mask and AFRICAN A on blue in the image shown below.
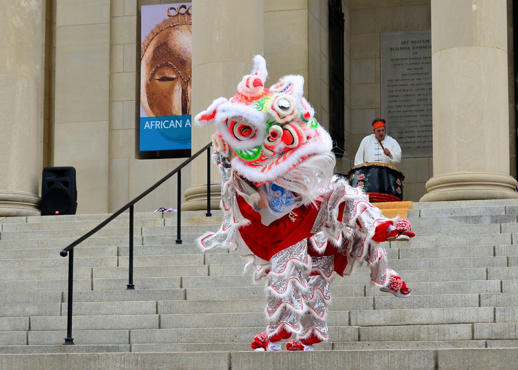
[[191,149],[192,3],[143,5],[139,150]]

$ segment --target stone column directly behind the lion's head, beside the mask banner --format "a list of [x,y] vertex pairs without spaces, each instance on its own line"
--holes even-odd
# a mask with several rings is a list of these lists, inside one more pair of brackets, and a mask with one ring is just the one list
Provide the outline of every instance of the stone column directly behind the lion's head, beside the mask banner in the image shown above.
[[[193,1],[193,116],[212,100],[237,93],[241,77],[250,73],[252,58],[263,54],[264,0]],[[192,128],[192,153],[211,142],[215,128]],[[192,186],[185,190],[182,210],[207,209],[207,156],[192,163]],[[211,165],[211,209],[221,201],[221,176]]]

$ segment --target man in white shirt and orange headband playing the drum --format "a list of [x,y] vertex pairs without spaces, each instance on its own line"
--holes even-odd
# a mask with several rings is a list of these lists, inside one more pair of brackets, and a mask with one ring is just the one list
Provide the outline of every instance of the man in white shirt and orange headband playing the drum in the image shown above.
[[395,165],[401,161],[401,148],[396,140],[386,134],[385,120],[372,121],[373,134],[363,138],[359,144],[354,166],[365,162],[382,162]]

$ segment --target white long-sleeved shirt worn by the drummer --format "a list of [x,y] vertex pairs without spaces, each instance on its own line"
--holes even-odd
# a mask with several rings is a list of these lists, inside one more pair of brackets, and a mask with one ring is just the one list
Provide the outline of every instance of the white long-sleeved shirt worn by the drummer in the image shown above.
[[396,140],[389,135],[385,135],[381,140],[386,149],[390,151],[390,157],[387,157],[381,149],[381,145],[376,139],[375,134],[370,134],[363,138],[359,144],[356,157],[354,158],[354,166],[365,162],[383,162],[389,165],[395,165],[401,161],[401,148]]

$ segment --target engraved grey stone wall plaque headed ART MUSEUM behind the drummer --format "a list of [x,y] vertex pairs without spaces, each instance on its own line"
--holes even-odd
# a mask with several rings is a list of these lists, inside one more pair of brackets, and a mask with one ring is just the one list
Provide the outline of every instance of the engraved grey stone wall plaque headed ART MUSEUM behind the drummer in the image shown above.
[[431,32],[381,34],[381,116],[402,157],[432,155]]

